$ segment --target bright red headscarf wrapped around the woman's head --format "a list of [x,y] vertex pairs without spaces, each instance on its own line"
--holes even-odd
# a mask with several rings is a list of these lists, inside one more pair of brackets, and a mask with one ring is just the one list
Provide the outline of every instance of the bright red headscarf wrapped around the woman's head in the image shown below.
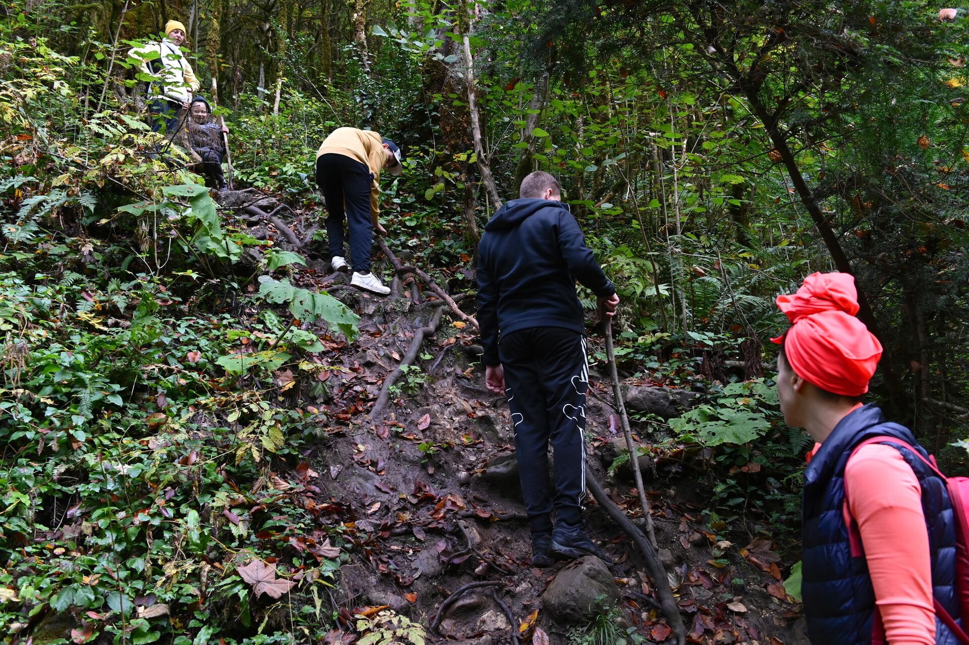
[[860,396],[882,357],[882,344],[855,318],[858,292],[848,273],[812,273],[792,295],[778,295],[777,306],[791,328],[772,338],[797,376],[844,396]]

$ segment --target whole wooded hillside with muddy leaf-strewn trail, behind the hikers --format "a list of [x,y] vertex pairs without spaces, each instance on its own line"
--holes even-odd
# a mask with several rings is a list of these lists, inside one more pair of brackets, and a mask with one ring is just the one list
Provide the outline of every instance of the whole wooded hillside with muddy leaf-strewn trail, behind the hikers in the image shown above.
[[[969,16],[940,9],[5,4],[3,642],[806,643],[811,441],[778,407],[776,295],[853,273],[885,347],[870,400],[969,465]],[[152,131],[134,52],[169,20],[228,190]],[[328,261],[314,164],[340,126],[403,152],[387,297]],[[478,243],[536,169],[621,298],[624,405],[579,290],[609,568],[529,567],[485,388]]]

